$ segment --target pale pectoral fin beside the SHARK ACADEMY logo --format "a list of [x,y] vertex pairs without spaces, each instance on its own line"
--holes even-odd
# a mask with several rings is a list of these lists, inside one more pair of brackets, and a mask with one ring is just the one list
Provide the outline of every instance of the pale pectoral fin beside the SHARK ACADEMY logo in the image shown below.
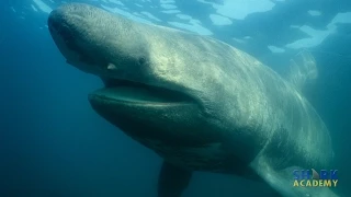
[[339,197],[328,187],[294,186],[294,170],[298,166],[290,166],[283,170],[274,170],[264,159],[256,160],[251,167],[273,189],[284,197]]

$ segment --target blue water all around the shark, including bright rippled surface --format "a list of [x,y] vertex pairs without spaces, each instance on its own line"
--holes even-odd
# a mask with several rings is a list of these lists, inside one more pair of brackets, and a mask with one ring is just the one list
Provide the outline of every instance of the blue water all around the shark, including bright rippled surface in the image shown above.
[[[319,76],[305,92],[327,125],[339,183],[351,196],[350,0],[0,1],[0,197],[155,197],[162,160],[99,116],[102,81],[66,63],[47,18],[84,2],[147,24],[212,36],[284,76],[308,50]],[[265,184],[196,172],[184,197],[275,196]]]

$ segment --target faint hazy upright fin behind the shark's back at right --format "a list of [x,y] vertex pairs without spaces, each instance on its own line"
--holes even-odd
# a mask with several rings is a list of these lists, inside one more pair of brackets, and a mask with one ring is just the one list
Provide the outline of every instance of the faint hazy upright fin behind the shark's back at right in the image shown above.
[[318,78],[318,69],[313,55],[304,49],[291,59],[287,79],[296,89],[303,91],[306,85],[314,84]]

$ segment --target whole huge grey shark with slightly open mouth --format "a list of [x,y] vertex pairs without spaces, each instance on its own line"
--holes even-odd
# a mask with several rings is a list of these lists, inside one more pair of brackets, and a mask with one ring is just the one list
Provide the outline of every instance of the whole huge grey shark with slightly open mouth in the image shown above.
[[211,37],[68,3],[48,27],[69,65],[100,77],[92,108],[163,159],[158,197],[180,197],[194,171],[262,181],[287,197],[332,197],[293,187],[293,170],[328,169],[327,127],[303,96],[317,76],[307,51],[282,78]]

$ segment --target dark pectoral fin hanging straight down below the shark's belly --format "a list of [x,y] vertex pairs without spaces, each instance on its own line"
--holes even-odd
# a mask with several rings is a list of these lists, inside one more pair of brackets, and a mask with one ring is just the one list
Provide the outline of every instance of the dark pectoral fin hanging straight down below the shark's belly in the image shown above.
[[158,179],[158,197],[180,197],[192,172],[163,162]]

